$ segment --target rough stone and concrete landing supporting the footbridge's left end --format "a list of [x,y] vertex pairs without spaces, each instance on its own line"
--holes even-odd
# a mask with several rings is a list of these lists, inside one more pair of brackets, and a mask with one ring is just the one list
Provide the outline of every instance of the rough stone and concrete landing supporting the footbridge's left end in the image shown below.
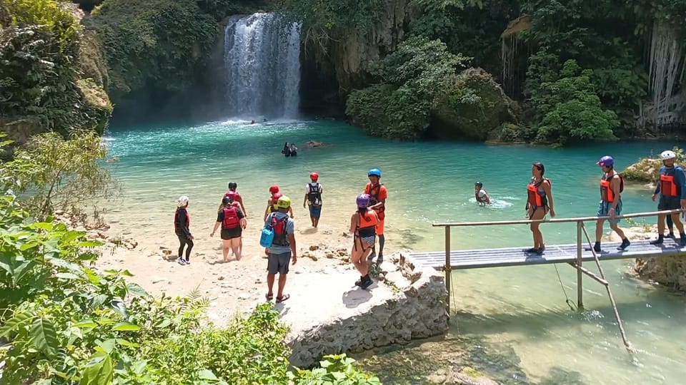
[[[292,334],[292,365],[307,367],[325,354],[354,353],[447,332],[443,277],[399,254],[389,260],[382,264],[377,288],[350,290],[344,299],[360,297],[347,302],[346,311],[322,321],[313,319],[312,325]],[[372,301],[372,296],[377,298]]]

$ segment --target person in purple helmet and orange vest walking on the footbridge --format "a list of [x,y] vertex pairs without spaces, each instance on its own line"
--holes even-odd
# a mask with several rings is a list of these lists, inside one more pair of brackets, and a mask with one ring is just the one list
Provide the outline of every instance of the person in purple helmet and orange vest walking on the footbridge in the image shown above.
[[[624,179],[620,173],[615,170],[615,159],[606,155],[595,164],[600,166],[602,170],[602,177],[600,178],[600,203],[598,204],[598,216],[610,217],[610,228],[614,230],[617,235],[622,238],[622,245],[617,247],[617,250],[625,250],[631,242],[624,234],[618,225],[620,220],[615,219],[617,215],[622,215],[622,191],[624,190]],[[595,245],[593,250],[600,252],[600,239],[602,238],[602,226],[605,224],[604,219],[599,219],[595,222]]]

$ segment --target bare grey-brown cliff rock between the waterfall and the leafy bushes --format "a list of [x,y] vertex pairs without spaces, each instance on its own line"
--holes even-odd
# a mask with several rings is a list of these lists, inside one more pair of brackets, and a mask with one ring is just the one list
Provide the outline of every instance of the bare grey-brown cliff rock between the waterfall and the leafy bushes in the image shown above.
[[372,80],[371,63],[395,51],[410,21],[417,16],[412,0],[384,0],[377,22],[369,30],[353,30],[342,39],[332,41],[329,56],[340,91],[347,94],[354,88],[367,86]]

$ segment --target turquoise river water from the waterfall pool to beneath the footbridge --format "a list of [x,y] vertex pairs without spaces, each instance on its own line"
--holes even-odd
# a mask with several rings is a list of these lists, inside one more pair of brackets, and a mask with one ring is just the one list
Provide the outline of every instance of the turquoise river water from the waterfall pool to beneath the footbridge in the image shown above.
[[[310,139],[330,145],[302,148]],[[287,141],[301,146],[297,158],[280,154]],[[432,222],[523,219],[535,161],[545,163],[545,175],[552,180],[557,217],[595,215],[600,178],[595,162],[602,155],[613,155],[621,170],[637,158],[678,144],[609,143],[556,150],[397,143],[325,120],[112,127],[106,142],[118,158],[109,167],[124,185],[126,202],[108,219],[145,223],[134,237],[169,232],[170,212],[179,195],[191,197],[194,216],[212,222],[229,180],[238,183],[247,210],[256,217],[262,216],[269,185],[278,184],[299,203],[312,171],[321,175],[324,186],[320,227],[343,228],[367,183],[367,170],[380,168],[389,190],[389,251],[442,250],[443,232],[432,228]],[[492,206],[474,202],[475,180],[484,183]],[[625,213],[654,210],[650,195],[645,188],[627,186],[622,194]],[[297,218],[303,226],[307,222],[302,207]],[[543,232],[548,244],[575,242],[574,224],[544,225]],[[530,247],[531,242],[530,231],[521,225],[452,230],[454,249]],[[459,341],[459,349],[474,352],[474,369],[512,384],[686,384],[686,366],[680,364],[686,356],[686,299],[632,279],[627,274],[630,263],[603,266],[637,349],[633,359],[622,347],[600,284],[585,280],[585,312],[565,304],[565,292],[572,302],[576,293],[575,271],[566,265],[557,267],[560,279],[552,265],[454,272],[457,313],[452,314],[447,340],[412,349],[449,352]],[[384,365],[378,367],[384,370]],[[392,372],[388,370],[386,379],[401,381],[392,379]]]

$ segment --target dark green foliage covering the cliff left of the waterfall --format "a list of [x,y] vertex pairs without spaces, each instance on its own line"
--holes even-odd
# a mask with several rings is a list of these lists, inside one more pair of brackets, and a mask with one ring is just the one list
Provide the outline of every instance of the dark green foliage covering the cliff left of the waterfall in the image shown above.
[[193,0],[105,1],[92,15],[86,27],[106,47],[113,99],[146,87],[186,88],[219,36],[217,21]]

